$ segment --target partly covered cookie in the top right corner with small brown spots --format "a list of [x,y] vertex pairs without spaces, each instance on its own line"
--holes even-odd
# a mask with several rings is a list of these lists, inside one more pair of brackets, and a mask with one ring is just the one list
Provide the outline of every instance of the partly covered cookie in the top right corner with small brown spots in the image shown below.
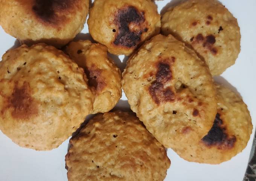
[[162,33],[192,46],[212,75],[222,74],[238,57],[238,22],[217,0],[188,0],[165,12],[161,23]]

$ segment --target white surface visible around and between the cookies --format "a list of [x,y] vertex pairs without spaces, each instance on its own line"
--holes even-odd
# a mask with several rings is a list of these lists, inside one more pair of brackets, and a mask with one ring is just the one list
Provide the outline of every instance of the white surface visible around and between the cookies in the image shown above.
[[[159,12],[170,0],[156,2]],[[172,0],[177,3],[179,0]],[[235,65],[215,79],[239,92],[243,97],[253,120],[253,134],[256,125],[256,0],[221,0],[238,19],[241,28],[241,53]],[[88,33],[87,24],[82,31]],[[87,36],[86,36],[87,37]],[[83,34],[79,38],[86,39]],[[15,38],[7,35],[0,27],[0,56],[13,47]],[[16,42],[17,46],[17,42]],[[122,60],[124,56],[120,56]],[[127,58],[126,58],[127,59]],[[120,60],[116,60],[124,66]],[[122,100],[126,100],[123,95]],[[119,106],[127,103],[120,101]],[[171,167],[166,181],[242,181],[247,167],[252,138],[242,153],[219,165],[190,163],[168,149]],[[67,181],[64,157],[68,140],[52,151],[34,151],[20,148],[0,131],[0,181]]]

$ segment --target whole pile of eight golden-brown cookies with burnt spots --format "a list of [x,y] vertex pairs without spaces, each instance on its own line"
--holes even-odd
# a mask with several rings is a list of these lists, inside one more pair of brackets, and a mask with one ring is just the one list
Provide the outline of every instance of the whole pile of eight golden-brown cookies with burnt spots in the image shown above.
[[[246,147],[247,106],[213,81],[235,63],[241,39],[217,0],[188,0],[162,16],[151,0],[94,0],[90,11],[88,0],[1,4],[0,25],[23,45],[0,62],[0,130],[38,151],[78,130],[69,181],[163,180],[165,148],[219,164]],[[97,43],[72,41],[88,12]],[[108,52],[130,56],[122,76]],[[111,111],[121,88],[134,113]],[[97,115],[81,126],[89,114]]]

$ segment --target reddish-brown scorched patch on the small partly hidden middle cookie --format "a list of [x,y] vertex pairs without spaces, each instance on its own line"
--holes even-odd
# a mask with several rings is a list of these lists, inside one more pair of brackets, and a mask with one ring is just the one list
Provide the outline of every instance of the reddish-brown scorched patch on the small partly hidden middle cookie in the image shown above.
[[94,87],[97,92],[102,91],[106,86],[105,80],[102,78],[102,70],[95,68],[84,69],[85,74],[88,78],[88,84],[90,87]]

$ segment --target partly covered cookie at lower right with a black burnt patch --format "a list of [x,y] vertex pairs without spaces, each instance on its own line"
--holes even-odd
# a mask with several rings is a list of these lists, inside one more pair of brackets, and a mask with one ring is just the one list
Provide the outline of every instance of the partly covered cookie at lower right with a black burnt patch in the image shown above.
[[217,85],[218,110],[210,131],[200,142],[175,151],[188,161],[219,164],[241,152],[250,139],[251,116],[242,98]]

